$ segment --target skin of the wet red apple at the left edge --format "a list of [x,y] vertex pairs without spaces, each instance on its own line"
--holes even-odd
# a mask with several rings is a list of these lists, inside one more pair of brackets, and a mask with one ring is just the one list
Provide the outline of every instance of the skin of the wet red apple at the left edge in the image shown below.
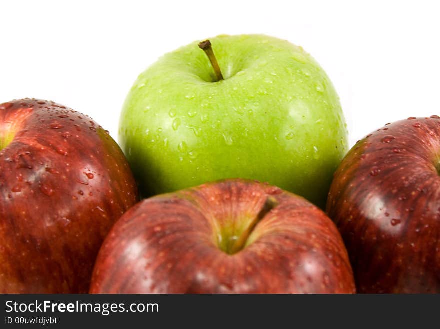
[[137,201],[130,168],[97,123],[53,102],[0,104],[5,130],[0,292],[85,293],[104,237]]

